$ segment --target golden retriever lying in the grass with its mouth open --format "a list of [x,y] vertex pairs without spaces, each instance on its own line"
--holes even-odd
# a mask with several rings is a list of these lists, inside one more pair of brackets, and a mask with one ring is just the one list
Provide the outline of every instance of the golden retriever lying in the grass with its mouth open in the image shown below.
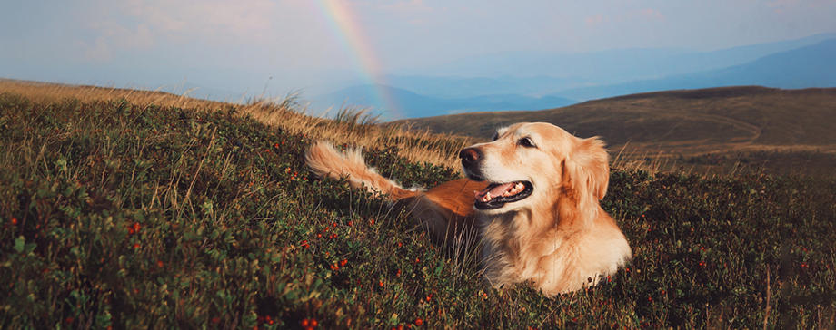
[[403,189],[366,166],[360,150],[324,141],[305,152],[314,173],[346,179],[403,205],[433,238],[450,244],[478,228],[485,279],[494,287],[530,283],[545,296],[595,286],[632,257],[599,201],[609,184],[604,143],[545,122],[499,129],[493,141],[459,153],[467,179]]

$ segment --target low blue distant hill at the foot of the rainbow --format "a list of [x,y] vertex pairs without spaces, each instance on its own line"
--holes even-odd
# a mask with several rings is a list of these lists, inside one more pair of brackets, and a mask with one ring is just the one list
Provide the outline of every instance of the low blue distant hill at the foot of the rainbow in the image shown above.
[[[381,95],[394,100],[397,110],[385,104]],[[314,97],[314,110],[329,107],[353,106],[383,111],[384,118],[414,118],[437,116],[459,112],[542,109],[575,103],[558,96],[530,97],[519,94],[491,94],[461,98],[431,97],[401,88],[384,85],[357,85],[340,91]]]

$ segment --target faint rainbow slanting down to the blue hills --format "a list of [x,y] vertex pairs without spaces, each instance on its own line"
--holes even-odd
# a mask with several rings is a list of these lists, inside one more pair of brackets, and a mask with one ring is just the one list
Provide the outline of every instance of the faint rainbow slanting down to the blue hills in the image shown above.
[[[364,82],[373,86],[377,104],[383,104],[385,109],[378,109],[383,112],[390,112],[391,117],[401,118],[401,108],[394,99],[392,93],[384,86],[387,86],[381,62],[374,54],[372,43],[363,34],[363,27],[357,23],[356,15],[344,0],[315,0],[314,3],[328,18],[337,39],[343,44],[346,52],[353,57],[354,65],[358,68]],[[390,116],[386,116],[390,117]]]

